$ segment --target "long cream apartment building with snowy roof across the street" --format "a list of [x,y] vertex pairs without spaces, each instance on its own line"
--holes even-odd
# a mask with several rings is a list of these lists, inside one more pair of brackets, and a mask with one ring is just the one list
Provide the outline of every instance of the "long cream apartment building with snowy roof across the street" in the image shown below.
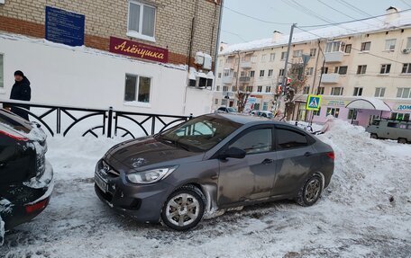
[[[390,7],[379,18],[295,33],[289,62],[300,63],[303,55],[310,59],[293,119],[323,122],[332,114],[360,125],[379,116],[409,120],[409,24],[410,11]],[[235,106],[236,86],[244,84],[250,92],[249,107],[271,110],[274,92],[284,76],[287,41],[288,35],[275,31],[271,39],[223,44],[217,61],[214,108]],[[323,95],[320,111],[306,111],[308,93]]]

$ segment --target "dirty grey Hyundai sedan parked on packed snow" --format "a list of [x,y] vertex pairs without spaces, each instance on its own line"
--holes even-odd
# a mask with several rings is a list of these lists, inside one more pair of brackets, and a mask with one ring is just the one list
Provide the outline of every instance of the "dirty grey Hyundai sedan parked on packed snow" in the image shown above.
[[140,222],[187,230],[219,209],[283,199],[313,205],[333,159],[332,147],[287,123],[208,114],[112,147],[96,165],[95,188]]

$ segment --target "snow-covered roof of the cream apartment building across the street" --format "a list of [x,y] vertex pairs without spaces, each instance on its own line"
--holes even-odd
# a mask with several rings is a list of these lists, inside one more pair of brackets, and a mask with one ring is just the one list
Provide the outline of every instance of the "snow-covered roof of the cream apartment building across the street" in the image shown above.
[[[390,7],[397,10],[397,8]],[[390,9],[388,8],[388,9]],[[293,43],[306,42],[311,40],[321,40],[353,36],[361,33],[373,31],[393,30],[411,26],[411,10],[398,11],[381,15],[380,17],[365,19],[361,21],[345,22],[338,25],[331,25],[326,28],[312,31],[296,32],[293,35]],[[255,49],[272,48],[288,44],[289,35],[284,35],[280,40],[273,41],[272,38],[262,40],[252,40],[250,42],[233,44],[221,51],[220,55],[230,54],[236,51],[247,51]]]

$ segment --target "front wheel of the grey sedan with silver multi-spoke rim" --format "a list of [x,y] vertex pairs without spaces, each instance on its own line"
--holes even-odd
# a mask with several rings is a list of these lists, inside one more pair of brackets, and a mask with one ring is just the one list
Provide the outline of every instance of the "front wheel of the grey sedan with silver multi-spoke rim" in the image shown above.
[[187,185],[170,194],[161,211],[161,219],[168,227],[183,231],[196,227],[204,211],[204,194],[195,186]]

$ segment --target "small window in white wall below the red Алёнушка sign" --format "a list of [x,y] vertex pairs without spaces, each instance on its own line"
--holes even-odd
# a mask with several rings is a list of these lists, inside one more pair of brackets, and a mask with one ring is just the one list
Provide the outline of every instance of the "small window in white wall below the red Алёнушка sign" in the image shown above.
[[124,102],[150,102],[151,78],[125,75]]

